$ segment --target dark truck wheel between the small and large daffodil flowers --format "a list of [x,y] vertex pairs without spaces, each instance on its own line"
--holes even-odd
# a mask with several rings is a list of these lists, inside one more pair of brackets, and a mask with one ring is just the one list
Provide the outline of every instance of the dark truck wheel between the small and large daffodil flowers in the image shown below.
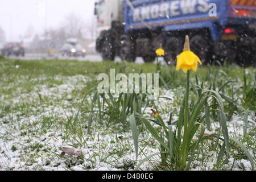
[[164,46],[165,55],[164,60],[167,64],[175,64],[176,57],[182,51],[182,41],[179,38],[170,37],[166,42],[166,46]]

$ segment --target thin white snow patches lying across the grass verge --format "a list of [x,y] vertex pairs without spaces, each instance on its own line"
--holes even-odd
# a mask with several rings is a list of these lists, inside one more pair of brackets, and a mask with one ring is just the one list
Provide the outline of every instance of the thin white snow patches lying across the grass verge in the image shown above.
[[[40,76],[31,78],[31,82],[35,84],[30,92],[23,93],[17,84],[23,84],[22,80],[28,78],[20,78],[19,81],[13,82],[6,86],[8,88],[16,88],[14,96],[2,95],[0,97],[1,105],[16,106],[22,103],[38,102],[39,97],[42,100],[51,100],[52,104],[35,105],[30,108],[30,114],[23,113],[22,110],[15,111],[8,115],[0,117],[0,169],[1,170],[123,170],[133,169],[135,161],[135,151],[131,131],[116,131],[109,127],[105,129],[98,123],[93,123],[93,135],[82,133],[82,136],[72,135],[65,132],[65,125],[68,125],[68,118],[75,116],[77,107],[69,100],[73,98],[72,92],[82,90],[86,86],[88,77],[77,75],[72,77],[56,76],[49,78]],[[47,80],[53,79],[61,84],[47,85]],[[43,84],[43,82],[46,82]],[[177,91],[178,90],[178,91]],[[179,96],[176,92],[183,88],[174,90],[161,90],[160,97],[156,101],[156,105],[160,109],[170,110],[177,113],[175,107],[175,98]],[[181,97],[181,96],[179,96]],[[81,99],[73,98],[76,103],[81,103]],[[88,101],[91,98],[88,96]],[[53,104],[54,103],[54,104]],[[152,118],[150,109],[146,107],[144,116]],[[33,114],[34,113],[34,114]],[[164,121],[168,121],[170,113],[162,113]],[[177,119],[174,114],[173,120]],[[250,120],[250,127],[255,127],[255,121]],[[56,128],[49,125],[49,122],[63,122],[63,128]],[[85,124],[87,121],[84,121]],[[104,121],[108,122],[108,121]],[[48,126],[49,125],[49,126]],[[59,126],[59,125],[58,125]],[[154,125],[156,126],[156,125]],[[218,129],[218,123],[212,123],[212,129]],[[228,122],[228,130],[232,136],[243,134],[243,120],[238,116],[234,116],[231,122]],[[86,131],[86,130],[82,130]],[[208,131],[210,133],[210,131]],[[254,140],[255,137],[254,137]],[[82,144],[81,144],[82,143]],[[81,144],[81,145],[80,145]],[[75,145],[75,146],[74,146]],[[146,146],[146,148],[143,148]],[[84,161],[75,156],[60,156],[62,147],[75,147],[82,151]],[[139,137],[139,158],[141,160],[146,156],[155,154],[158,151],[156,142],[152,136],[144,132]],[[143,151],[143,152],[142,152]],[[255,151],[250,151],[255,158]],[[201,156],[199,156],[201,157]],[[152,161],[159,161],[160,156],[156,156]],[[250,162],[245,159],[236,160],[230,158],[226,165],[227,169],[233,165],[233,170],[241,170],[245,168],[250,170]],[[153,162],[154,163],[154,162]],[[145,162],[142,169],[152,169],[153,164]],[[205,169],[199,161],[193,162],[195,170]],[[241,167],[242,166],[242,167]],[[209,164],[207,169],[211,169]]]

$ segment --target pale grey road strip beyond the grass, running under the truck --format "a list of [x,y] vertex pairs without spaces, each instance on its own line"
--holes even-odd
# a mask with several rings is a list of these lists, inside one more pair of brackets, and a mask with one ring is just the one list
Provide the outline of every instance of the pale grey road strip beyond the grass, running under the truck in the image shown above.
[[[24,57],[19,56],[10,56],[7,57],[9,59],[18,59],[18,60],[51,60],[51,59],[57,59],[57,60],[79,60],[79,61],[92,61],[92,62],[100,62],[102,61],[101,55],[98,54],[88,54],[85,57],[67,57],[67,56],[48,56],[47,54],[43,53],[26,53]],[[119,57],[115,57],[115,62],[121,62],[122,60]],[[143,64],[144,61],[142,57],[137,57],[135,60],[135,63],[137,64]]]

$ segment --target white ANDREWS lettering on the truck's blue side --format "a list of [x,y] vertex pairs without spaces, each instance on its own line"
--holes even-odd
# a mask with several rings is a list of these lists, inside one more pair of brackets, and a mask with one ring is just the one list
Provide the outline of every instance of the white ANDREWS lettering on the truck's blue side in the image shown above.
[[135,8],[133,21],[140,21],[141,18],[146,20],[194,13],[206,13],[208,10],[208,0],[163,1]]

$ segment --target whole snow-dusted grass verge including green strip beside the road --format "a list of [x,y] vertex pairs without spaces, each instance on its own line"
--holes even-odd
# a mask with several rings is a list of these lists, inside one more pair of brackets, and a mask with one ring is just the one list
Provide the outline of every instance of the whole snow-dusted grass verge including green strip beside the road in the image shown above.
[[[95,114],[91,132],[87,131],[92,94],[82,104],[83,97],[90,88],[97,85],[97,75],[109,73],[110,68],[122,73],[155,72],[154,64],[0,60],[0,170],[133,170],[136,165],[133,137],[129,128],[123,130],[123,124],[118,122],[118,118],[111,121],[106,114],[99,122]],[[205,85],[210,85],[207,68],[200,69],[197,76]],[[233,87],[233,97],[236,104],[240,104],[237,107],[241,111],[233,111],[228,122],[229,135],[245,144],[255,160],[253,111],[249,114],[247,133],[243,135],[243,111],[247,109],[241,101],[243,69],[230,67],[223,68],[223,71],[226,77],[235,81],[223,92],[231,97],[230,89]],[[160,88],[160,97],[171,100],[159,98],[154,103],[164,121],[168,121],[170,110],[174,121],[179,113],[185,78],[180,73],[177,73],[176,78],[172,88]],[[219,85],[216,87],[220,88]],[[150,109],[155,106],[152,103],[143,105],[143,116],[154,119]],[[255,108],[255,105],[251,107]],[[227,113],[231,109],[228,107]],[[212,130],[208,133],[219,129],[213,118],[211,121]],[[159,152],[159,148],[143,125],[138,128],[139,161]],[[63,147],[77,148],[82,151],[82,155],[62,156]],[[211,147],[210,142],[200,146],[192,170],[213,169],[208,164]],[[159,166],[159,161],[160,156],[154,156],[140,168],[165,169]],[[229,156],[224,156],[222,161],[219,167],[221,170],[251,169],[249,160],[239,149],[230,150]]]

